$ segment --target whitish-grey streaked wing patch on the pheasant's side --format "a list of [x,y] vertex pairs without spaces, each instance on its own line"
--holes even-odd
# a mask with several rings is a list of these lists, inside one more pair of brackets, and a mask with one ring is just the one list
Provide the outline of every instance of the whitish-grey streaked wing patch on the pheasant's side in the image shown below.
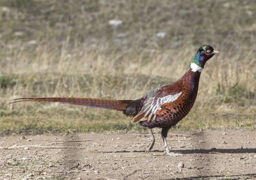
[[161,105],[175,101],[181,94],[182,92],[174,95],[167,95],[158,99],[155,99],[154,97],[148,98],[144,108],[141,109],[141,112],[145,112],[144,118],[139,121],[154,121],[156,118],[155,113],[160,109]]

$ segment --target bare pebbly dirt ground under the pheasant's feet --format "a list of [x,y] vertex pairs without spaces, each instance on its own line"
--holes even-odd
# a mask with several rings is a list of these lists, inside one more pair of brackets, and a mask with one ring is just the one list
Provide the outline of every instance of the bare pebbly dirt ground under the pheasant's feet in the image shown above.
[[159,130],[154,134],[148,154],[146,133],[0,137],[0,179],[256,179],[253,131],[169,132],[179,157],[162,155]]

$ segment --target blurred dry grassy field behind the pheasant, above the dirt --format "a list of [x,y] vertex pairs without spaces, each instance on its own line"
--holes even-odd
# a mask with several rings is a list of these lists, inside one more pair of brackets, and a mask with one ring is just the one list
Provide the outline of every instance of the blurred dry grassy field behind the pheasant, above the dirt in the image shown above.
[[256,129],[255,0],[0,0],[0,135],[143,131],[122,113],[20,97],[137,99],[220,51],[173,131]]

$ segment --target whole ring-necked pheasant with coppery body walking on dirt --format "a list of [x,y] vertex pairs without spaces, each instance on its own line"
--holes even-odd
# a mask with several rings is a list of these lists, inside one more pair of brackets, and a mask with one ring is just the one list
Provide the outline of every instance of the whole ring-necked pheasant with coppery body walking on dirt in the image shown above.
[[68,98],[68,97],[45,97],[45,98],[18,98],[11,103],[21,101],[36,102],[60,102],[93,108],[105,108],[122,111],[131,116],[130,122],[138,122],[147,127],[150,134],[148,151],[154,146],[152,128],[162,128],[161,138],[164,144],[164,154],[168,156],[182,156],[170,153],[166,137],[169,129],[184,118],[192,108],[196,99],[200,73],[208,59],[214,54],[219,54],[210,45],[202,45],[196,52],[189,70],[176,82],[154,89],[137,100],[110,100],[95,98]]

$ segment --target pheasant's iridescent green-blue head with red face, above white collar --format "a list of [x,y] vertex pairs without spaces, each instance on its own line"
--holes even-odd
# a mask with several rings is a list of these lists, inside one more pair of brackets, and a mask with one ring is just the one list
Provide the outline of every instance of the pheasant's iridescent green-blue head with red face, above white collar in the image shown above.
[[219,52],[214,50],[210,45],[202,45],[197,50],[192,62],[203,68],[206,61],[214,54],[219,54]]

